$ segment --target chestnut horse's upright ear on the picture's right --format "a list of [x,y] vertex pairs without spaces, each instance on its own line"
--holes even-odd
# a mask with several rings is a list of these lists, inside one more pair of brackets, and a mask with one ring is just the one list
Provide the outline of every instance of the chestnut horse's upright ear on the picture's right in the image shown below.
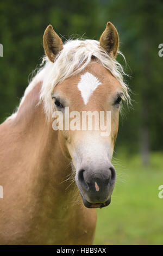
[[117,29],[111,22],[108,22],[105,31],[99,39],[99,45],[104,48],[113,58],[116,57],[119,45],[119,36]]

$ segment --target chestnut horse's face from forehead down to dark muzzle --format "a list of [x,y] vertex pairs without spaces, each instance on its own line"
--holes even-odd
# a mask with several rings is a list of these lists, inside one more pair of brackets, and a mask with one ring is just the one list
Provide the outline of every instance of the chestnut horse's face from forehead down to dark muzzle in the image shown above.
[[[59,139],[65,155],[72,159],[84,205],[89,208],[108,205],[116,180],[111,158],[123,97],[121,84],[101,64],[92,62],[82,73],[55,86],[52,96],[57,110],[63,114],[64,124],[66,115],[69,115],[70,129],[59,130]],[[109,119],[107,112],[110,113]],[[92,115],[94,123],[91,129],[89,118],[84,119],[83,113],[98,113],[97,122]],[[105,133],[100,125],[95,127],[95,123],[100,123],[101,113],[104,114],[104,123],[110,125],[109,133]]]

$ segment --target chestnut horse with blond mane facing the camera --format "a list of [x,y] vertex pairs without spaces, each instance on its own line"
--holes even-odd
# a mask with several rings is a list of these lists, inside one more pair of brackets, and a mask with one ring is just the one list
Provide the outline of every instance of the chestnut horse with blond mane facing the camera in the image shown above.
[[[15,113],[0,126],[1,245],[91,245],[96,209],[110,204],[111,163],[129,88],[108,22],[100,40],[67,40],[49,25],[45,56]],[[53,129],[53,113],[111,112],[111,132]],[[55,119],[56,120],[56,119]],[[59,125],[57,124],[58,128]]]

